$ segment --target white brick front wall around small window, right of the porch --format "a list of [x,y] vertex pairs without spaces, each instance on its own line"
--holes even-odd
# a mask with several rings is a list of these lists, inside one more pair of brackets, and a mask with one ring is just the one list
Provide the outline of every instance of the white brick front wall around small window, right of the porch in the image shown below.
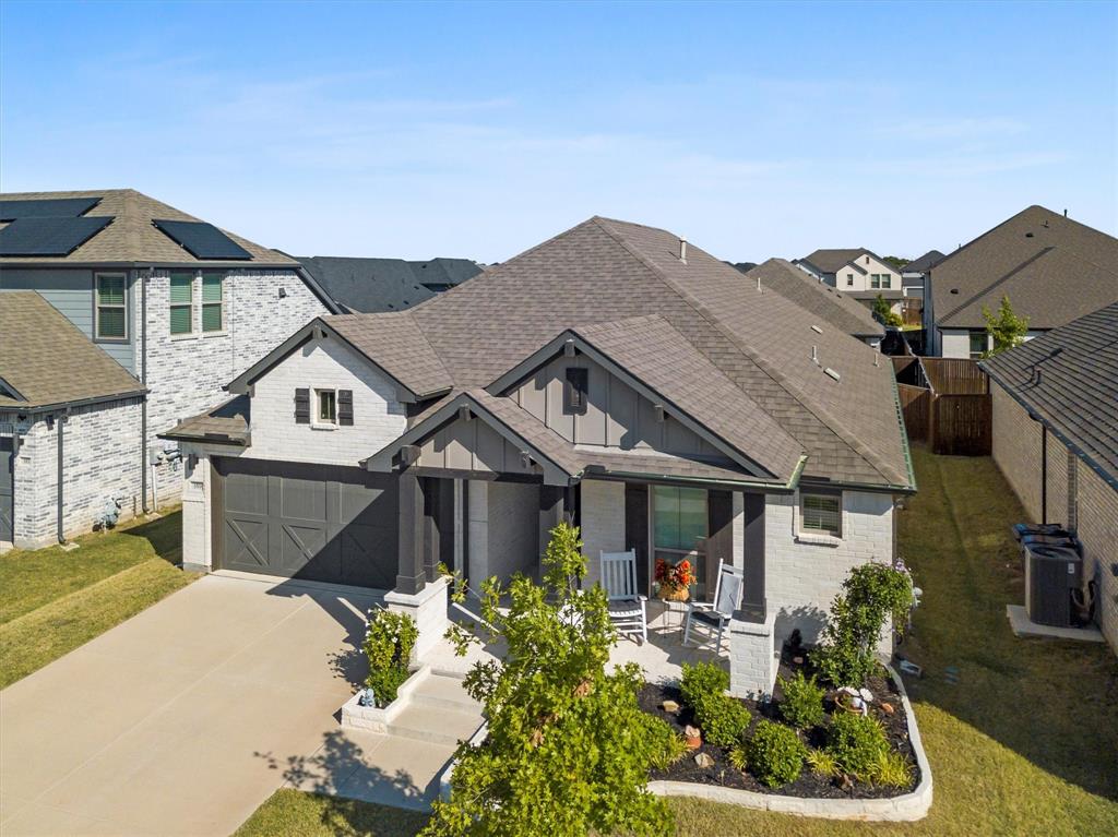
[[[813,542],[818,541],[818,542]],[[779,646],[794,628],[815,641],[846,573],[869,561],[893,559],[893,498],[843,492],[841,539],[799,532],[799,494],[769,495],[765,511],[765,581],[768,609],[776,612]]]

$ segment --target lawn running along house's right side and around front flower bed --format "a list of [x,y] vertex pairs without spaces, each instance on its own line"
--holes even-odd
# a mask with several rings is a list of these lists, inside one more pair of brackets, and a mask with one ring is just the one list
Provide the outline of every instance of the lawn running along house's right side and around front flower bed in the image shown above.
[[[840,822],[672,799],[678,835],[1118,834],[1114,651],[1015,638],[1005,606],[1023,595],[1008,531],[1024,519],[1017,501],[988,458],[918,448],[913,459],[920,493],[899,513],[899,549],[925,592],[902,651],[925,668],[906,684],[935,777],[931,812],[911,824]],[[956,684],[947,667],[958,669]],[[398,815],[280,791],[238,837],[414,834]]]

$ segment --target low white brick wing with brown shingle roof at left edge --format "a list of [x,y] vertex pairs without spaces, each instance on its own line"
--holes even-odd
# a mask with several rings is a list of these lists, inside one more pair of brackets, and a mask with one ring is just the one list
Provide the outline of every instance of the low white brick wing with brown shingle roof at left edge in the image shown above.
[[143,386],[34,291],[0,297],[0,548],[88,531],[139,484]]

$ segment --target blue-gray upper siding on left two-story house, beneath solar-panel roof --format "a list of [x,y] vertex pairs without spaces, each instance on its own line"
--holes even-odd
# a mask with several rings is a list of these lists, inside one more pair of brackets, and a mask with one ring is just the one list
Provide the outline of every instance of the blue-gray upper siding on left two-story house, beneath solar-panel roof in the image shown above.
[[[93,268],[12,268],[0,267],[0,292],[3,291],[38,291],[87,337],[93,340]],[[125,288],[127,298],[124,310],[127,313],[127,340],[94,342],[124,367],[136,374],[135,370],[135,317],[131,316],[133,276],[130,270],[108,270],[104,273],[123,273],[127,278]]]

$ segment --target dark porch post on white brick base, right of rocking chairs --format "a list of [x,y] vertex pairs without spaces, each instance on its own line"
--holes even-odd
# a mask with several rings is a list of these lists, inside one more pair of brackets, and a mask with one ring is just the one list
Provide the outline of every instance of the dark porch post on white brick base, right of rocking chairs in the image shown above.
[[746,494],[743,501],[745,589],[730,620],[730,693],[759,700],[776,684],[776,611],[768,611],[765,596],[765,495]]

